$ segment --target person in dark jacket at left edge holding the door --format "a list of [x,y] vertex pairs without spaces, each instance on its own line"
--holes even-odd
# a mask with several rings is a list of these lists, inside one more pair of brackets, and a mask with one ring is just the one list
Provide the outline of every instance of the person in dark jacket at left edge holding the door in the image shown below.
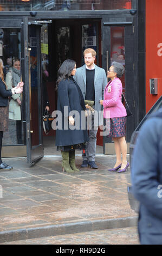
[[4,82],[3,75],[3,64],[0,62],[0,169],[10,170],[11,166],[2,162],[1,151],[2,151],[2,138],[3,132],[8,131],[8,120],[9,120],[9,96],[16,93],[23,92],[23,82],[17,84],[16,87],[12,88],[10,91],[7,90],[7,86]]

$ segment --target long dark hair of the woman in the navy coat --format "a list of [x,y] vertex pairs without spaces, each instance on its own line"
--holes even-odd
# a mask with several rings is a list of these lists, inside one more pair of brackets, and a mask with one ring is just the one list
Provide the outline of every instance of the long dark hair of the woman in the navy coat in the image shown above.
[[74,69],[75,66],[75,61],[72,59],[66,59],[60,66],[58,72],[57,72],[57,81],[56,81],[56,86],[60,83],[62,79],[67,79],[71,76],[71,73]]

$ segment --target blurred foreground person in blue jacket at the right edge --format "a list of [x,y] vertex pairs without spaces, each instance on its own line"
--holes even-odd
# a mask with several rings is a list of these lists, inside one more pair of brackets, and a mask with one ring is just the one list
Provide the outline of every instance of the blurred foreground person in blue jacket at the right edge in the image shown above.
[[162,108],[142,125],[132,161],[132,188],[140,202],[142,245],[162,245]]

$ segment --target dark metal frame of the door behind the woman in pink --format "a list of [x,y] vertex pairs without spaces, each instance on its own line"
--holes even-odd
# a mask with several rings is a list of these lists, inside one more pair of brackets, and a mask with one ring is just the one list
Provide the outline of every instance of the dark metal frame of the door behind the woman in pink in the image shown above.
[[[135,29],[134,29],[134,18],[131,17],[125,21],[123,18],[117,18],[116,19],[111,19],[111,18],[103,18],[102,19],[102,67],[107,71],[108,66],[110,66],[111,63],[111,56],[110,54],[107,54],[107,49],[108,52],[111,50],[111,27],[125,27],[125,48],[127,51],[127,47],[131,45],[134,48],[134,51],[132,52],[131,59],[132,59],[132,65],[129,66],[129,70],[126,71],[126,83],[130,83],[130,79],[127,76],[127,72],[131,70],[132,72],[132,83],[133,83],[133,91],[132,87],[131,89],[126,90],[126,98],[127,102],[130,105],[133,104],[132,112],[133,112],[133,117],[128,117],[127,118],[127,123],[126,123],[126,139],[127,139],[127,145],[129,146],[129,141],[131,139],[131,132],[135,130],[135,127],[137,127],[138,124],[138,87],[137,87],[137,76],[138,76],[138,59],[135,56],[135,52],[137,51],[137,45],[135,40]],[[108,41],[107,43],[105,43]],[[128,56],[127,56],[128,58]],[[126,61],[127,62],[127,61]],[[136,84],[136,86],[135,86]],[[133,94],[133,102],[129,100],[129,97],[132,96]],[[132,122],[132,127],[131,130],[129,131],[127,129],[128,122],[130,118],[133,118]],[[130,120],[131,121],[131,120]],[[129,148],[129,147],[128,147]],[[107,138],[103,136],[103,154],[115,154],[114,151],[114,145],[112,143],[111,138]]]

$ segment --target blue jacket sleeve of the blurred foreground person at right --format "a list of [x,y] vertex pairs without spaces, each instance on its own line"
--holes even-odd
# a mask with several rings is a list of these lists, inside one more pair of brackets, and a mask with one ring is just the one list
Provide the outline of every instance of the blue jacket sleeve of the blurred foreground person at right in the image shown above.
[[150,118],[142,125],[135,145],[132,161],[132,188],[135,198],[152,212],[161,218],[162,199],[158,197],[160,152],[161,142],[161,120]]

